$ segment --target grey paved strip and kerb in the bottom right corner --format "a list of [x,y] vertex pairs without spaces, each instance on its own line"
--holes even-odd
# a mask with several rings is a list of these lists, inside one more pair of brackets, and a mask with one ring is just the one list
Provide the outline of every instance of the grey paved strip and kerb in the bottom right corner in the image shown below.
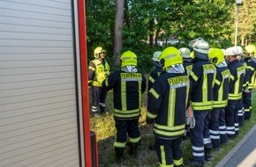
[[256,125],[216,167],[256,167]]

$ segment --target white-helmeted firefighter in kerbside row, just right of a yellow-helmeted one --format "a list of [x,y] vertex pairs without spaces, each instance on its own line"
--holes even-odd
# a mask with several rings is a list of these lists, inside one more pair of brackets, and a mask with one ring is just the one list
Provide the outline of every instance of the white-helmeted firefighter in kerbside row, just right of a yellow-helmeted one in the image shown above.
[[226,131],[230,139],[234,139],[238,134],[238,109],[245,76],[245,67],[237,60],[238,54],[237,47],[229,47],[225,51],[225,59],[230,69],[230,91],[228,105],[225,107]]

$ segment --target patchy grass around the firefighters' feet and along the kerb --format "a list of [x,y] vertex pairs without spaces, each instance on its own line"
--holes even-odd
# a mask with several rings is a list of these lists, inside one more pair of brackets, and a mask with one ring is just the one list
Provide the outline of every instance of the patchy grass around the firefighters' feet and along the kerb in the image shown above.
[[[110,113],[113,111],[113,93],[109,91],[108,97],[106,100],[106,109]],[[252,109],[256,109],[256,103],[253,103],[256,100],[256,91],[252,92]],[[146,113],[147,113],[147,92],[143,94],[142,97],[142,110],[141,117],[139,118],[139,130],[141,134],[141,145],[138,149],[138,155],[136,157],[129,156],[128,147],[124,149],[124,161],[117,162],[114,150],[113,143],[115,141],[115,121],[113,115],[109,114],[106,116],[101,116],[100,118],[91,118],[90,126],[91,130],[96,133],[97,142],[98,142],[98,152],[99,152],[99,164],[101,167],[109,166],[157,166],[157,156],[154,150],[148,149],[149,145],[154,143],[154,135],[152,132],[148,132],[146,128]],[[239,142],[247,132],[255,125],[256,123],[256,113],[252,112],[251,120],[245,120],[244,127],[240,127],[239,135],[233,141],[228,141],[226,145],[222,145],[222,149],[218,152],[212,152],[215,159],[209,163],[205,163],[206,167],[215,166],[219,163],[224,156],[226,156],[230,149],[233,149],[237,142]],[[190,140],[182,142],[182,149],[184,154],[184,160],[192,158],[192,147]],[[186,166],[186,165],[184,165]]]

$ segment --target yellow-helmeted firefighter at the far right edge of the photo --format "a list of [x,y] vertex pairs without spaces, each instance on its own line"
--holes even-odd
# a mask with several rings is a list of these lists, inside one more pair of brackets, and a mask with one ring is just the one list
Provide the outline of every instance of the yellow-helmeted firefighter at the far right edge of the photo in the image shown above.
[[245,63],[246,63],[246,72],[245,76],[247,79],[248,89],[243,91],[244,96],[244,105],[245,105],[245,120],[249,120],[252,114],[252,89],[255,81],[255,69],[256,62],[252,60],[252,56],[255,52],[255,47],[253,45],[248,45],[245,47]]

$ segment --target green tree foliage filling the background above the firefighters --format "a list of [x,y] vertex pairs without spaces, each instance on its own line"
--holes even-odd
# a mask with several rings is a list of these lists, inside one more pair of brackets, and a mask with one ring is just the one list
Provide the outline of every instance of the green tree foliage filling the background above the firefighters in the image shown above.
[[[190,40],[202,37],[211,47],[230,47],[235,32],[232,26],[235,6],[233,1],[224,0],[125,0],[121,53],[132,50],[138,54],[139,69],[148,72],[152,69],[150,58],[154,50],[163,49],[157,47],[158,41],[168,43],[170,39],[178,39],[175,47],[187,47]],[[256,36],[253,6],[255,2],[246,1],[239,15],[238,38],[241,39],[244,32],[249,43],[255,41]],[[87,0],[86,9],[88,60],[94,59],[94,48],[102,46],[107,51],[111,69],[117,69],[113,56],[115,0]],[[153,46],[148,45],[150,37],[154,37]]]

